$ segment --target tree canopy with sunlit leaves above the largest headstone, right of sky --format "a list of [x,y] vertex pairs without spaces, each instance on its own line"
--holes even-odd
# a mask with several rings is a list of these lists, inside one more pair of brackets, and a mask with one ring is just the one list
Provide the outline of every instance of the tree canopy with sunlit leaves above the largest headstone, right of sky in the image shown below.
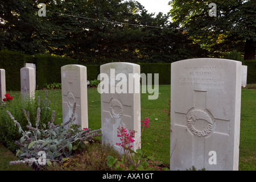
[[[216,16],[209,4],[215,3]],[[256,1],[253,0],[172,0],[170,14],[174,24],[188,29],[190,38],[208,50],[210,56],[240,51],[245,60],[255,59]]]

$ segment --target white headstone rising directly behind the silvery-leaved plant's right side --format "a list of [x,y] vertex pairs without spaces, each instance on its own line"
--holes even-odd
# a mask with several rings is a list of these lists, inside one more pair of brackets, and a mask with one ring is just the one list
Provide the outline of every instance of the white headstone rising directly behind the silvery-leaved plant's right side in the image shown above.
[[81,129],[88,128],[87,73],[83,65],[65,65],[61,67],[61,93],[63,123],[72,118],[73,105],[76,102],[76,122]]

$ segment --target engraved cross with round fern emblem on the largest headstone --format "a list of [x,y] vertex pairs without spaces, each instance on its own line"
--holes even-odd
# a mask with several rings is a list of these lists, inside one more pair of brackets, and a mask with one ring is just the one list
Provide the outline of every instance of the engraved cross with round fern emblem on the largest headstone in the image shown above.
[[208,152],[214,150],[207,145],[207,140],[216,134],[229,135],[229,121],[214,118],[207,109],[207,92],[197,90],[193,90],[193,107],[188,113],[175,111],[175,118],[175,126],[188,131],[192,165],[204,167],[208,163]]

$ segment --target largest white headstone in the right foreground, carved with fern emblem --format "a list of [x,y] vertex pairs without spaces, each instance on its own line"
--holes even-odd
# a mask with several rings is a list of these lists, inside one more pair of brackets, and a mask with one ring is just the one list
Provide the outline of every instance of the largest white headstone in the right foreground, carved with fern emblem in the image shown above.
[[238,170],[241,62],[171,64],[171,170]]

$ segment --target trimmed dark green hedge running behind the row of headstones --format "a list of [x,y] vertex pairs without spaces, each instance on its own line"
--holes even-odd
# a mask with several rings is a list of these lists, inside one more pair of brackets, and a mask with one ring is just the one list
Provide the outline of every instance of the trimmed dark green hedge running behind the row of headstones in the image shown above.
[[[47,84],[61,82],[61,67],[67,64],[81,64],[87,67],[87,80],[97,79],[100,74],[100,65],[82,64],[79,60],[68,57],[36,55],[29,56],[14,51],[0,51],[0,68],[6,71],[6,90],[20,90],[20,68],[26,63],[36,64],[37,89],[43,89]],[[159,85],[171,84],[170,63],[137,63],[141,65],[141,73],[159,73]],[[247,84],[256,83],[256,61],[244,61],[247,65]]]

